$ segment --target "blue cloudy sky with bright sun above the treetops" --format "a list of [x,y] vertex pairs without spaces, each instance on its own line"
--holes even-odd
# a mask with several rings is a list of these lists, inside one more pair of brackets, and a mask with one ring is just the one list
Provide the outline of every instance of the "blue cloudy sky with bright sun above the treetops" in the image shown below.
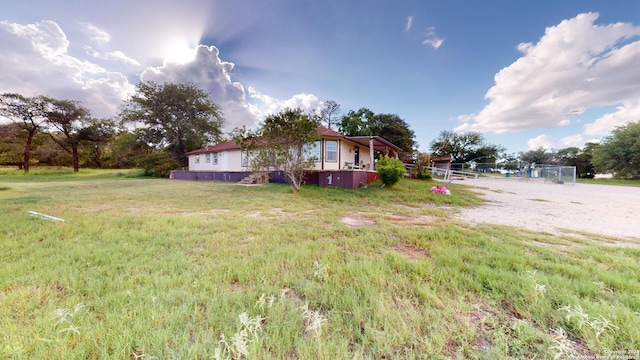
[[509,153],[640,120],[635,0],[2,0],[0,93],[115,118],[140,81],[195,84],[225,132],[327,100]]

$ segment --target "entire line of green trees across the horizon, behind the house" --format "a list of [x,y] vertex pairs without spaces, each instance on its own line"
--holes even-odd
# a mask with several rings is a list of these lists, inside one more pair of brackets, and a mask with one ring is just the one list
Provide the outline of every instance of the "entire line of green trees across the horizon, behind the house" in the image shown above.
[[[284,109],[279,116],[287,116]],[[288,114],[291,115],[291,114]],[[367,108],[342,115],[333,100],[318,112],[305,113],[314,124],[324,125],[347,136],[381,136],[401,148],[399,158],[425,162],[425,156],[451,156],[454,163],[477,159],[502,161],[505,169],[521,163],[576,166],[578,176],[596,172],[621,178],[640,176],[640,123],[619,127],[599,144],[560,150],[536,149],[508,154],[501,145],[489,144],[480,133],[442,131],[431,142],[431,154],[419,153],[415,133],[396,114],[375,114]],[[0,165],[29,171],[31,165],[129,168],[141,167],[146,175],[166,176],[172,169],[188,166],[187,153],[216,144],[224,116],[209,94],[191,84],[141,82],[123,102],[114,119],[99,119],[73,100],[48,96],[27,97],[0,94]],[[261,124],[261,128],[265,122]]]

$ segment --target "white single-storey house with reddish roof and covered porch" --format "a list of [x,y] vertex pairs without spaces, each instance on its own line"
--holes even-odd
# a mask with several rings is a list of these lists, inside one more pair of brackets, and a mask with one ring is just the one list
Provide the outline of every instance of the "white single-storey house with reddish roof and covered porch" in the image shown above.
[[[377,179],[376,152],[397,154],[400,148],[379,136],[345,136],[318,127],[320,139],[309,144],[309,156],[317,159],[306,182],[321,186],[357,188]],[[188,171],[173,171],[171,177],[183,180],[240,181],[251,174],[250,156],[235,141],[191,151]],[[272,174],[272,181],[284,177]]]

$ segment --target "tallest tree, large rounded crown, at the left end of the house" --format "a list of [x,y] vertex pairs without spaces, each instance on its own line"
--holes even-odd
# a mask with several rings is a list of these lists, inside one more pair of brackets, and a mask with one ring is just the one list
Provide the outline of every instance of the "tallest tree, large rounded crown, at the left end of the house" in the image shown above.
[[224,119],[209,94],[195,85],[141,82],[120,113],[125,123],[142,122],[150,141],[188,166],[187,152],[216,143]]

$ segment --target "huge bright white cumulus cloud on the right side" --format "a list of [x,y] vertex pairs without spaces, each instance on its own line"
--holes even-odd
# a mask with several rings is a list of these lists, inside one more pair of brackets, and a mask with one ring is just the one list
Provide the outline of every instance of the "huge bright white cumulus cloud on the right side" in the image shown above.
[[[476,114],[459,117],[457,131],[507,133],[560,127],[569,117],[597,107],[633,104],[640,96],[640,27],[596,25],[597,13],[579,14],[546,29],[540,40],[522,43],[523,53],[500,70]],[[612,123],[637,120],[618,111],[586,125],[595,135]],[[631,117],[630,117],[631,116]],[[606,124],[606,125],[605,125]],[[600,126],[602,125],[602,126]]]

